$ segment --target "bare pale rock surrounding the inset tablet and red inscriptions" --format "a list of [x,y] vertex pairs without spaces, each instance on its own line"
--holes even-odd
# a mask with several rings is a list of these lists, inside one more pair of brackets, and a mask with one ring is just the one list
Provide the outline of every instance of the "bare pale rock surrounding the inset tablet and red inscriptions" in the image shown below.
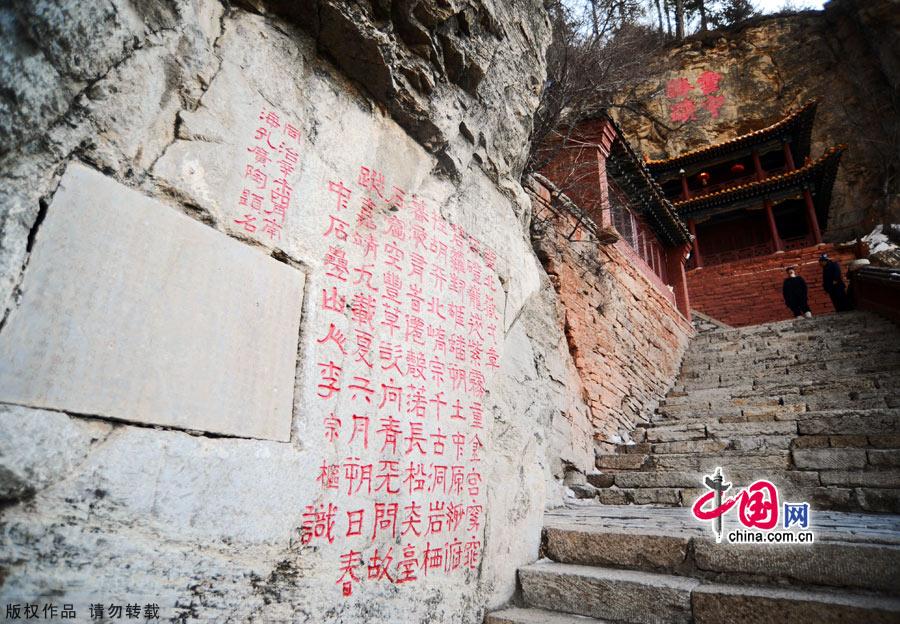
[[[104,419],[75,413],[70,401],[57,406],[62,412],[2,407],[0,496],[12,504],[0,524],[0,600],[73,602],[83,613],[102,595],[158,603],[166,619],[475,622],[510,598],[515,567],[537,557],[542,512],[561,500],[565,467],[588,472],[593,462],[580,380],[552,289],[542,288],[546,276],[525,232],[530,203],[518,183],[549,32],[543,7],[420,2],[385,14],[383,3],[304,3],[303,15],[316,16],[310,24],[282,15],[277,3],[247,6],[115,0],[0,8],[10,42],[0,50],[0,337],[29,309],[30,271],[53,238],[43,227],[57,217],[60,179],[72,167],[130,189],[117,195],[117,208],[136,208],[129,193],[142,195],[153,213],[142,217],[146,228],[154,214],[177,216],[304,284],[299,349],[296,339],[282,345],[297,364],[290,441],[168,428],[189,427],[196,414],[188,408],[183,422],[148,418],[153,426],[138,426],[122,422],[121,406]],[[372,64],[359,64],[364,51],[373,52]],[[238,222],[248,210],[240,198],[261,111],[291,122],[301,146],[298,166],[283,173],[299,199],[279,237]],[[334,205],[328,182],[355,189],[360,166],[383,169],[441,223],[465,228],[496,253],[484,277],[498,292],[499,370],[486,382],[484,424],[494,433],[483,440],[484,512],[470,533],[481,542],[480,561],[452,578],[370,583],[344,599],[335,583],[343,540],[298,538],[304,510],[323,500],[315,481],[323,457],[338,452],[323,444],[329,414],[311,381],[329,250],[319,225]],[[384,230],[390,210],[374,217]],[[103,233],[117,235],[112,226]],[[144,238],[149,244],[153,234]],[[193,244],[182,251],[191,264]],[[193,268],[204,280],[216,277]],[[290,289],[275,288],[300,305]],[[428,288],[424,294],[437,294]],[[445,304],[446,296],[438,302]],[[146,348],[154,346],[148,338]],[[75,351],[61,357],[83,355]],[[215,349],[201,355],[215,358]],[[203,365],[196,353],[184,357],[188,370]],[[179,377],[184,391],[195,389],[191,375]],[[393,546],[395,564],[402,548]],[[365,578],[365,562],[355,572]]]

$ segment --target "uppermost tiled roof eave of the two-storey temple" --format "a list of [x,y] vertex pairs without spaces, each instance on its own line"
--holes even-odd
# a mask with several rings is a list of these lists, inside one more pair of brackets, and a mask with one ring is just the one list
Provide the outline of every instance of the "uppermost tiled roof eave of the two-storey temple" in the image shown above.
[[809,154],[817,106],[818,102],[811,100],[765,128],[721,143],[705,145],[672,158],[647,159],[645,165],[654,178],[664,181],[678,177],[680,169],[692,175],[704,167],[747,158],[753,150],[765,153],[776,148],[780,149],[783,141],[790,141],[793,144],[797,160],[802,162]]

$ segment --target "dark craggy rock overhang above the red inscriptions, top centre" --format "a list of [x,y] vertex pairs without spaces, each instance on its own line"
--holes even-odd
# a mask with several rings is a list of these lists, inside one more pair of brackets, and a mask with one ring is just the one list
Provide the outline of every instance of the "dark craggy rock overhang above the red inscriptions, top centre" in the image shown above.
[[317,48],[461,175],[472,154],[518,177],[544,80],[550,24],[536,0],[242,0],[301,25]]

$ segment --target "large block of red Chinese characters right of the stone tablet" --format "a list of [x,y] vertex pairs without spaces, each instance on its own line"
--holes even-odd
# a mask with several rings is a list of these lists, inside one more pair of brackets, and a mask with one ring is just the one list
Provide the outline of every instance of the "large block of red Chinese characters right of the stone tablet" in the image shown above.
[[323,184],[313,322],[321,445],[301,544],[333,546],[344,596],[477,570],[502,336],[497,255],[362,166]]

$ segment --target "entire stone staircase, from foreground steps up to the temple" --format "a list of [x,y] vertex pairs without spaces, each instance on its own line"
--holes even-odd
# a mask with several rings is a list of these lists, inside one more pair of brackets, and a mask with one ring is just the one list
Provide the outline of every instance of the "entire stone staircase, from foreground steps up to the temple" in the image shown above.
[[[864,313],[705,329],[651,421],[570,481],[592,500],[545,514],[519,606],[485,624],[900,623],[900,330]],[[716,467],[808,501],[815,542],[716,543],[688,509]]]

